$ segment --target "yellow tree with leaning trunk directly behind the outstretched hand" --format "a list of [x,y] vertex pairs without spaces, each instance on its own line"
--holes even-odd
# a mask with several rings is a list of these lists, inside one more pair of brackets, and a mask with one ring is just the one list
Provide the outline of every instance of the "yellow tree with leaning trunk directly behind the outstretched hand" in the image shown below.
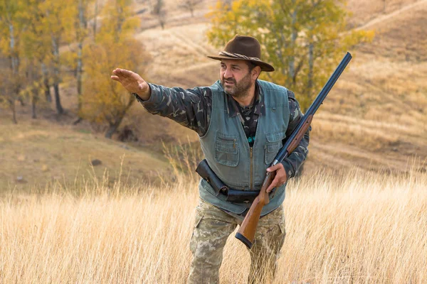
[[105,137],[111,138],[135,97],[110,80],[115,67],[143,73],[142,62],[147,60],[142,43],[133,38],[139,20],[132,16],[130,0],[111,0],[102,12],[96,43],[83,50],[85,73],[81,116],[90,121],[107,124]]

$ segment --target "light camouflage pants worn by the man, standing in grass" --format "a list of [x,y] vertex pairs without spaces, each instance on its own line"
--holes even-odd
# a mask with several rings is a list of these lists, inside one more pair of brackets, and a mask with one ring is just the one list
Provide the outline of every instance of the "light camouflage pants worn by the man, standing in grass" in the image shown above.
[[[203,200],[196,207],[196,220],[190,249],[193,253],[189,283],[219,283],[219,267],[228,236],[241,224],[234,217]],[[273,280],[280,249],[285,241],[285,216],[283,206],[260,219],[251,254],[251,271],[248,283],[265,283]]]

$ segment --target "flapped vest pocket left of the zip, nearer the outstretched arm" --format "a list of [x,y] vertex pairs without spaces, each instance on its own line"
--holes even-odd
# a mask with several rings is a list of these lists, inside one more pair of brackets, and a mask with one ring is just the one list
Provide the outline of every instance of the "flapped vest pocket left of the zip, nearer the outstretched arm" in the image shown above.
[[215,139],[215,161],[221,165],[236,167],[238,165],[238,143],[237,136],[229,136],[216,132]]

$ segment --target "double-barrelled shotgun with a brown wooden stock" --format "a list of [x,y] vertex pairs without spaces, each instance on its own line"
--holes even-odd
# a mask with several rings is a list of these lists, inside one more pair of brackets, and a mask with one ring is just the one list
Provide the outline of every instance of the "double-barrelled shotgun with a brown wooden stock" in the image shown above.
[[[352,60],[352,55],[350,53],[347,53],[339,63],[337,69],[335,69],[334,73],[332,73],[330,79],[327,80],[325,86],[317,95],[315,101],[312,102],[310,108],[307,109],[305,115],[302,116],[300,123],[289,136],[288,140],[285,141],[285,144],[275,156],[275,159],[270,164],[270,167],[273,167],[273,165],[277,165],[278,163],[282,162],[300,144],[302,136],[304,136],[304,133],[310,127],[315,112],[317,111],[317,109],[319,109],[323,100],[326,98],[327,94],[330,92],[335,82],[337,82],[339,75],[341,75],[342,71],[344,71],[345,67],[347,67],[347,64],[350,62],[350,60]],[[242,241],[243,244],[248,247],[248,249],[251,249],[253,245],[256,227],[258,226],[258,221],[260,220],[261,216],[261,210],[263,209],[265,204],[268,204],[268,202],[270,202],[266,190],[270,186],[271,182],[273,182],[274,176],[275,174],[273,173],[265,174],[265,179],[263,181],[260,193],[255,198],[255,200],[253,200],[251,208],[249,208],[245,219],[243,219],[243,222],[240,228],[238,229],[238,232],[236,233],[236,238]]]

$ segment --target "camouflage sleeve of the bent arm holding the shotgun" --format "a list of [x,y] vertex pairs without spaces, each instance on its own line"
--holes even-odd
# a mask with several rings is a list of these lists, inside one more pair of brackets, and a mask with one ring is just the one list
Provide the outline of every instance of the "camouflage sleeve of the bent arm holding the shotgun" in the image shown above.
[[[288,100],[289,100],[289,109],[290,109],[290,119],[288,124],[288,129],[286,130],[286,137],[289,137],[292,134],[292,131],[297,127],[298,123],[302,119],[302,112],[300,109],[300,104],[298,104],[297,99],[295,99],[295,94],[288,90]],[[305,158],[307,158],[308,153],[308,143],[310,141],[310,131],[311,126],[304,134],[300,141],[300,145],[295,148],[295,150],[289,155],[288,158],[283,160],[282,164],[288,175],[288,179],[294,177],[297,174],[298,169],[304,163]]]

